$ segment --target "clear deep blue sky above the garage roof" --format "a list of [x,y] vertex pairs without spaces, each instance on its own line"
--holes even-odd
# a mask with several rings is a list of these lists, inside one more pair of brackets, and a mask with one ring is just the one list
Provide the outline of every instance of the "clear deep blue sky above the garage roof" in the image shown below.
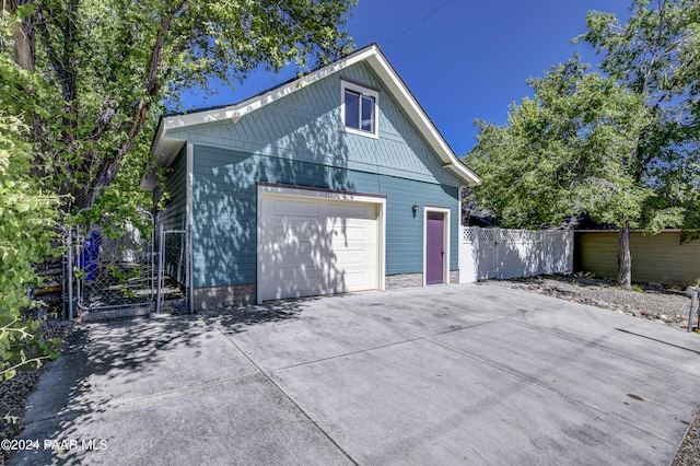
[[[462,155],[475,143],[475,118],[504,124],[509,105],[532,95],[527,78],[544,75],[550,66],[575,51],[583,61],[596,62],[586,44],[571,44],[585,32],[587,11],[609,11],[626,20],[630,3],[359,0],[347,28],[358,47],[380,45],[450,145]],[[221,89],[206,101],[190,96],[186,105],[235,103],[294,75],[293,69],[279,75],[259,73],[235,91]]]

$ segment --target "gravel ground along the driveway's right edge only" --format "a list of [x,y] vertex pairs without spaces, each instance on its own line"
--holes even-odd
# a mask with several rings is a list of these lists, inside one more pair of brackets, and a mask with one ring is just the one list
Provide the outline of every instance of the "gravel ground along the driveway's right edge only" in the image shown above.
[[[604,307],[617,313],[662,322],[687,331],[690,295],[681,287],[663,288],[638,284],[635,291],[623,290],[615,282],[586,275],[553,275],[502,281],[504,286],[562,300]],[[697,316],[696,316],[697,318]],[[693,319],[695,326],[697,321]],[[700,335],[698,336],[700,338]],[[672,466],[700,466],[700,411],[688,428]]]

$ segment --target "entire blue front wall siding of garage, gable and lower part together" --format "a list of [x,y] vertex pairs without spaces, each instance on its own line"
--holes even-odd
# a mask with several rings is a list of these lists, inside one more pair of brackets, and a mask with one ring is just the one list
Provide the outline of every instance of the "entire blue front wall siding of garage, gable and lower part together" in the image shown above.
[[[378,138],[345,132],[340,80],[380,90]],[[195,144],[196,287],[255,283],[256,182],[387,196],[386,273],[422,272],[423,207],[452,210],[457,269],[458,186],[372,69],[358,63],[240,120],[171,130]],[[413,218],[411,207],[420,206]]]

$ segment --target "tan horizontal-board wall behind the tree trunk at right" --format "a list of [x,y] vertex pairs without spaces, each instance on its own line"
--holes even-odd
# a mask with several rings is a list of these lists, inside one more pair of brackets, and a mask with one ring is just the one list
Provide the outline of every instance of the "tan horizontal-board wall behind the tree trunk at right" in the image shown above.
[[[617,278],[617,231],[575,232],[574,270]],[[679,231],[655,236],[632,232],[632,281],[662,284],[700,283],[700,240],[680,244]]]

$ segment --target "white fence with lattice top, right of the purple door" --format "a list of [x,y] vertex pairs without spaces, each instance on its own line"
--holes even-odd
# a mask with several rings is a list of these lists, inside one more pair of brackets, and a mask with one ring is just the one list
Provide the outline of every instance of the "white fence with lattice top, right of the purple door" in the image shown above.
[[573,270],[573,231],[463,226],[459,282]]

